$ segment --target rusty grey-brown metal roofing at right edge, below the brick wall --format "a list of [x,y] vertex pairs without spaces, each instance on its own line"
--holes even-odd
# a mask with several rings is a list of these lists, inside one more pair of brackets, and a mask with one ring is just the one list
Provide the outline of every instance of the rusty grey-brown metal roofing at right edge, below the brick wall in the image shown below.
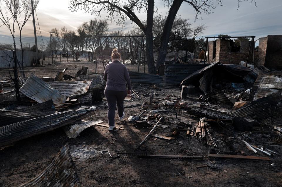
[[250,100],[266,97],[273,93],[282,93],[282,76],[276,72],[259,71],[250,94]]

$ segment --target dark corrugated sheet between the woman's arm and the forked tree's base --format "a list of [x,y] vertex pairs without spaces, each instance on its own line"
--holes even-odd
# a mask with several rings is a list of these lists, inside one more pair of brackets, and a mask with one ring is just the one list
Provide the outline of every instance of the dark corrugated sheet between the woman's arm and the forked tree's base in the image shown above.
[[149,84],[162,86],[162,77],[158,75],[152,75],[147,73],[137,73],[129,71],[131,84]]

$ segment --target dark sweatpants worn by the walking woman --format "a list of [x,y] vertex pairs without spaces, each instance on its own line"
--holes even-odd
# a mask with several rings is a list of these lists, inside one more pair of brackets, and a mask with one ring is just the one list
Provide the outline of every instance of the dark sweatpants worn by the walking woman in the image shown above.
[[123,115],[123,101],[126,91],[112,91],[105,89],[105,96],[108,102],[108,120],[110,126],[115,126],[115,107],[117,105],[118,116]]

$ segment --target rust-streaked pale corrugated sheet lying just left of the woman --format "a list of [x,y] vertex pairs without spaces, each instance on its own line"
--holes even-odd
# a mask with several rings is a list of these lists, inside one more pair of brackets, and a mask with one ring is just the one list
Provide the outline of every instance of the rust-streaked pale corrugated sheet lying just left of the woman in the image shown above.
[[59,90],[63,95],[69,97],[71,95],[85,94],[91,85],[91,80],[83,81],[49,81],[48,85]]

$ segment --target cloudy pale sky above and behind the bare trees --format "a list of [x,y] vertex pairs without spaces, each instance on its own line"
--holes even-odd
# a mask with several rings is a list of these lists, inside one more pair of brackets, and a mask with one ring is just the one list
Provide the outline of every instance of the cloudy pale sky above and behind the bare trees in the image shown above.
[[[1,1],[1,0],[0,0]],[[214,13],[202,16],[194,22],[195,11],[187,3],[183,2],[178,11],[182,18],[188,18],[193,26],[203,24],[207,27],[203,36],[217,36],[219,34],[228,34],[231,36],[256,36],[255,40],[267,35],[282,35],[281,0],[256,0],[257,7],[251,0],[240,3],[238,8],[237,0],[222,0],[224,6],[217,5]],[[164,7],[163,1],[155,1],[158,12],[163,15],[168,13],[168,8]],[[83,11],[71,12],[69,10],[69,0],[41,0],[38,4],[36,13],[38,23],[43,36],[43,42],[46,43],[48,31],[52,28],[61,28],[66,26],[69,30],[76,30],[84,21],[96,18],[96,15],[84,13]],[[101,18],[106,18],[107,13],[102,13]],[[138,14],[141,20],[146,19],[145,13]],[[100,19],[100,18],[99,18]],[[36,20],[37,22],[37,20]],[[2,25],[2,23],[0,23]],[[131,21],[126,21],[125,28],[110,22],[110,30],[125,31],[132,28]],[[34,44],[34,32],[32,21],[24,26],[23,30],[24,44]],[[38,37],[38,45],[43,45],[41,37]],[[5,26],[0,27],[0,43],[12,43],[9,30]],[[19,40],[16,41],[19,43]],[[257,43],[256,43],[257,44]]]

